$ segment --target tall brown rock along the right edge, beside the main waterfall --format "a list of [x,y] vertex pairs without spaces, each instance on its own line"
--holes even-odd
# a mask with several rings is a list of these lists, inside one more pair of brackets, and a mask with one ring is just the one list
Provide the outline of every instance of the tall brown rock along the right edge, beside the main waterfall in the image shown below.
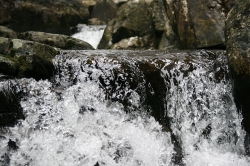
[[234,98],[250,133],[250,2],[238,2],[226,20],[229,67],[234,81]]

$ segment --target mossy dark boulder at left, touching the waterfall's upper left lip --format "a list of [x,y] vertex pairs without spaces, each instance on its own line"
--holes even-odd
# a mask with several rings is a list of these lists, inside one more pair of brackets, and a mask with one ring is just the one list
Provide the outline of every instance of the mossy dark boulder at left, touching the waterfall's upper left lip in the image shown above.
[[[0,37],[0,53],[15,63],[17,70],[15,76],[33,77],[39,80],[48,79],[53,75],[52,60],[59,51],[37,42]],[[11,61],[8,63],[11,64]],[[4,73],[6,70],[0,72]]]

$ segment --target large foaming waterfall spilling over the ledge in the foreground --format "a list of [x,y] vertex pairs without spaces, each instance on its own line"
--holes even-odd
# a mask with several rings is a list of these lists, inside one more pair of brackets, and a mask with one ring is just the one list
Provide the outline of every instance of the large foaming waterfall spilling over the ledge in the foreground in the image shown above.
[[1,165],[247,166],[224,51],[62,51],[52,80],[2,80],[25,120]]

